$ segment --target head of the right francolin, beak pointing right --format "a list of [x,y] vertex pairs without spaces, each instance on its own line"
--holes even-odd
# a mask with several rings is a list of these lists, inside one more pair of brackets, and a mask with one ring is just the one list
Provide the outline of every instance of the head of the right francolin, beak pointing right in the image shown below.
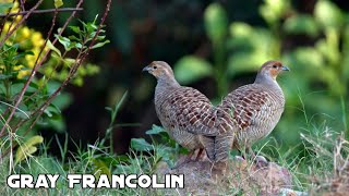
[[286,65],[282,65],[280,61],[267,61],[265,62],[258,74],[272,77],[274,81],[282,71],[290,71]]

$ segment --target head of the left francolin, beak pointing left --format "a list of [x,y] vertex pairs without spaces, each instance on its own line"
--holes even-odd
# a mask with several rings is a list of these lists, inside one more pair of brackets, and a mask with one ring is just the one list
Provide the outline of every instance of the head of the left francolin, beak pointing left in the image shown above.
[[170,65],[164,61],[153,61],[149,65],[145,66],[143,72],[148,72],[157,79],[173,77],[173,71]]

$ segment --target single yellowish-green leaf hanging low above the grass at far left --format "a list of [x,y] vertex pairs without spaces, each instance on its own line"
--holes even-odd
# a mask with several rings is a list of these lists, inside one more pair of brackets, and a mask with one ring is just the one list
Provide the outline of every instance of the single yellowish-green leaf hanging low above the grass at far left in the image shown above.
[[14,164],[17,164],[22,160],[26,159],[29,155],[34,154],[37,150],[35,145],[41,144],[43,142],[44,137],[35,135],[31,137],[28,140],[26,140],[24,144],[22,144],[15,154]]

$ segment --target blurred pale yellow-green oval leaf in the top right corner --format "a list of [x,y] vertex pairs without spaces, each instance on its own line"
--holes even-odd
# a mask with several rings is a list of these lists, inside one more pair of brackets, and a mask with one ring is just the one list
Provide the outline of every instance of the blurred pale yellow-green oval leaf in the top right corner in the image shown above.
[[335,3],[326,0],[317,1],[314,15],[316,21],[325,28],[340,28],[345,22],[341,10]]

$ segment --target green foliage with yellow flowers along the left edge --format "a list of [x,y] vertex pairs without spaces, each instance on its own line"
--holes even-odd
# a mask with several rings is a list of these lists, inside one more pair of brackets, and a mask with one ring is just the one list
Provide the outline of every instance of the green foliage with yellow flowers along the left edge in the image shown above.
[[[11,8],[5,13],[20,12],[17,1],[4,4],[4,8]],[[55,5],[61,4],[56,1]],[[0,2],[2,7],[3,2]],[[71,81],[82,86],[85,76],[96,74],[99,71],[97,65],[83,64],[82,61],[91,50],[109,42],[104,35],[105,26],[99,25],[97,17],[87,23],[80,21],[79,26],[70,25],[72,33],[68,37],[62,34],[62,28],[58,28],[55,37],[63,49],[53,46],[49,38],[43,38],[41,33],[20,23],[22,15],[3,20],[0,30],[1,156],[12,154],[19,146],[16,164],[31,157],[37,150],[35,145],[43,143],[44,138],[36,135],[39,128],[65,131],[61,110],[71,102],[71,98],[62,88]],[[49,49],[52,50],[50,56]],[[44,53],[49,58],[44,59]],[[85,66],[80,69],[82,64]],[[35,75],[37,71],[40,74]],[[56,96],[59,99],[55,99]]]

